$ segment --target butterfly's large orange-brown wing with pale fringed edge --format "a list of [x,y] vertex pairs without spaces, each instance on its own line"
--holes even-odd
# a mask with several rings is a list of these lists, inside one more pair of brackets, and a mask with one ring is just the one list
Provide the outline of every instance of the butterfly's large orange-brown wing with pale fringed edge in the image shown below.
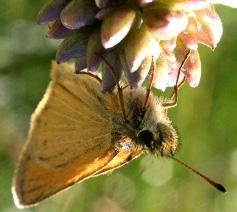
[[90,177],[116,157],[112,111],[119,113],[116,96],[101,94],[96,79],[54,65],[52,82],[32,115],[14,180],[19,207]]

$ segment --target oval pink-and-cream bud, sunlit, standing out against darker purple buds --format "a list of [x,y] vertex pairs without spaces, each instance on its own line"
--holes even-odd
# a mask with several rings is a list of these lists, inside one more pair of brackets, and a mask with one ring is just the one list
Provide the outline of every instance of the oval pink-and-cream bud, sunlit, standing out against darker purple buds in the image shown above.
[[118,44],[128,34],[135,14],[133,9],[123,7],[105,17],[101,26],[101,41],[106,49]]

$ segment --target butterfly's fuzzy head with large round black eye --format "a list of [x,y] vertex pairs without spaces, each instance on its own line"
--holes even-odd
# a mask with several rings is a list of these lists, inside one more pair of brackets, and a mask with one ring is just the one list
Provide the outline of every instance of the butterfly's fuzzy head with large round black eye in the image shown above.
[[156,127],[142,129],[137,138],[154,155],[173,156],[178,147],[177,133],[172,125],[166,123],[157,123]]

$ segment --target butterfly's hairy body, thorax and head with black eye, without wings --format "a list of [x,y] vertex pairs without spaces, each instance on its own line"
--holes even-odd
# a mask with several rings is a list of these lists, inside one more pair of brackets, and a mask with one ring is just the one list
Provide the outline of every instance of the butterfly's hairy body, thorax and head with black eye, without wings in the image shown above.
[[144,90],[127,90],[124,99],[127,121],[122,116],[113,118],[114,140],[125,136],[152,154],[172,156],[177,149],[178,138],[162,106],[163,100],[150,95],[144,107]]

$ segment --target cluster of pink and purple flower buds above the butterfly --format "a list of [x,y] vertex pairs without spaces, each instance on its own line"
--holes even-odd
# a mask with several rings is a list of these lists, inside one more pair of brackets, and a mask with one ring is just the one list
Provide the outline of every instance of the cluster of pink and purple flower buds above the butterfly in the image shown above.
[[237,7],[236,0],[48,0],[38,23],[49,24],[49,38],[64,39],[57,62],[74,58],[76,72],[102,71],[103,92],[121,76],[131,88],[140,87],[152,60],[153,85],[161,90],[174,86],[189,50],[179,82],[185,78],[196,87],[201,77],[198,45],[214,49],[222,36],[214,4]]

